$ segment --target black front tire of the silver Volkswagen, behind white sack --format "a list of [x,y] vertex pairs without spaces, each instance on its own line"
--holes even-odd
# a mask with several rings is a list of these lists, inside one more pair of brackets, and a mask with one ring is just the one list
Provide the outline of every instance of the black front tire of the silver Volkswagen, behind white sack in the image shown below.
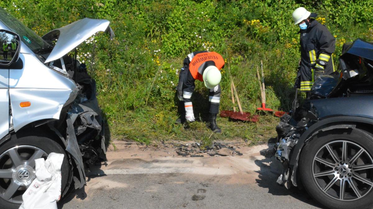
[[[17,160],[13,161],[12,158],[10,157],[11,156],[10,153],[12,153],[12,155],[14,155],[15,153],[16,154],[18,153],[18,156],[20,157],[19,159],[21,159],[22,164],[30,164],[31,166],[32,164],[30,162],[34,160],[30,160],[30,159],[32,158],[32,155],[34,154],[35,154],[34,158],[36,157],[35,159],[40,158],[40,155],[44,159],[47,159],[48,154],[50,154],[51,152],[64,154],[65,156],[63,158],[63,163],[61,165],[61,176],[62,176],[61,191],[63,193],[63,191],[66,189],[67,182],[68,182],[69,175],[70,175],[70,167],[69,167],[68,158],[63,148],[56,141],[50,139],[48,136],[40,136],[40,135],[41,134],[39,134],[39,136],[38,135],[21,136],[21,137],[13,136],[12,139],[8,139],[6,142],[1,143],[0,169],[9,169],[10,167],[12,168],[14,167],[13,162]],[[34,149],[34,153],[32,151],[33,149]],[[35,164],[35,161],[34,161],[34,164]],[[26,165],[22,165],[22,166],[25,167]],[[18,169],[18,167],[16,167],[16,169]],[[28,174],[30,174],[29,175],[30,178],[28,180],[25,180],[25,182],[23,182],[24,183],[23,185],[22,185],[22,182],[21,183],[18,182],[19,188],[16,190],[16,192],[13,193],[13,195],[11,196],[12,198],[9,200],[4,199],[5,191],[9,189],[10,182],[12,182],[12,180],[19,181],[20,179],[17,179],[17,177],[14,177],[12,179],[0,178],[0,205],[2,206],[1,208],[16,209],[16,208],[19,208],[19,206],[21,205],[22,194],[25,192],[26,188],[28,188],[28,186],[31,184],[33,180],[32,179],[33,177],[31,176],[35,169],[35,165],[32,166],[32,169],[30,167],[25,168],[25,169],[29,169],[29,170],[22,171],[22,172],[23,173],[28,172]],[[18,171],[15,171],[15,172],[17,173]],[[21,176],[25,178],[24,175],[21,175]],[[25,186],[25,184],[27,184],[27,186]]]

